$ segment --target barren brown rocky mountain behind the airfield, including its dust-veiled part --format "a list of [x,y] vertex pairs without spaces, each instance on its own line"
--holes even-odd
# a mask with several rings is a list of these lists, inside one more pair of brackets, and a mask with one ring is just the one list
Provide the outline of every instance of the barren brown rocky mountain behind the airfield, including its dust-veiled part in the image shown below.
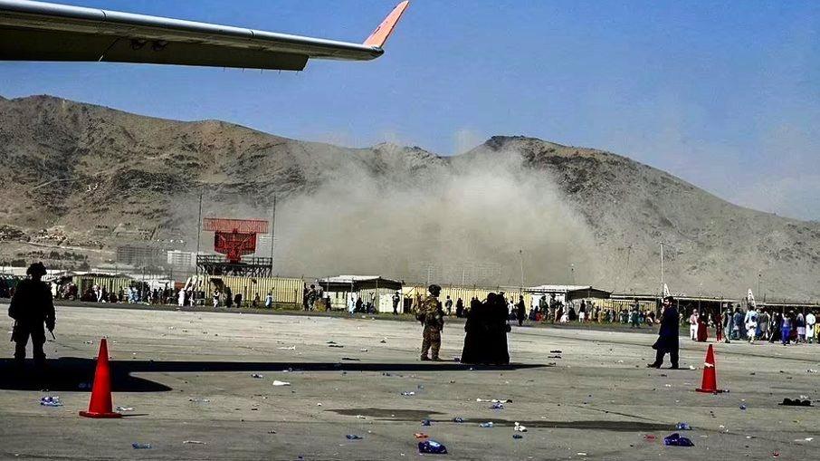
[[737,297],[759,286],[769,298],[820,296],[820,224],[734,206],[629,158],[540,139],[493,137],[443,158],[33,96],[0,98],[0,160],[5,260],[37,247],[71,249],[92,264],[135,242],[190,250],[200,194],[205,215],[233,217],[265,217],[275,196],[278,260],[294,275],[381,272],[424,282],[425,270],[451,264],[482,283],[524,276],[656,292],[663,242],[673,292]]

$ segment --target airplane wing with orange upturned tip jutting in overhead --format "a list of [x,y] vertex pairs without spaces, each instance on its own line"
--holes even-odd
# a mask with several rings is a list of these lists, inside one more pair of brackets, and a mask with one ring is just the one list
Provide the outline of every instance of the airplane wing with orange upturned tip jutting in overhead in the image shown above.
[[0,0],[0,61],[141,62],[301,71],[309,59],[381,56],[404,14],[400,3],[364,43],[337,42],[228,25]]

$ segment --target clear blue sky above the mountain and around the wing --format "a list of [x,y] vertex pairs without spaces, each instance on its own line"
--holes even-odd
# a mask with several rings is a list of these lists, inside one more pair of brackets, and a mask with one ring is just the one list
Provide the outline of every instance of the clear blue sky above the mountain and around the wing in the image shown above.
[[[396,2],[72,0],[360,42]],[[48,93],[296,139],[439,154],[496,134],[611,150],[820,220],[820,2],[415,0],[376,62],[305,72],[0,62]]]

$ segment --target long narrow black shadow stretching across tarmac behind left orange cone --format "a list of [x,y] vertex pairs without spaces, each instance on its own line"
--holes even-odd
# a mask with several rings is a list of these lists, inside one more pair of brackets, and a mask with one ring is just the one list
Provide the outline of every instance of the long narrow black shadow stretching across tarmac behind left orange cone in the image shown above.
[[[14,368],[13,359],[0,359],[0,389],[72,391],[91,390],[97,360],[66,357],[47,360],[45,370],[27,363],[24,371]],[[522,370],[540,364],[510,364],[500,367],[462,365],[457,362],[289,362],[289,361],[154,361],[111,360],[111,390],[114,392],[165,392],[165,384],[132,376],[132,373],[209,373],[218,371],[469,371]]]

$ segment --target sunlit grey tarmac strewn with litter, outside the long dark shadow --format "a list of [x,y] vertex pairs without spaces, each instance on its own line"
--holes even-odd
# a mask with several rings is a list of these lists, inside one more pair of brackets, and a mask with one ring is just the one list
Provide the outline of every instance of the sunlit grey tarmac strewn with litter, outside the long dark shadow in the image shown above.
[[[718,384],[730,392],[714,395],[694,391],[706,344],[682,338],[683,370],[650,370],[654,336],[631,331],[514,326],[509,367],[471,367],[453,360],[464,337],[455,322],[443,331],[447,361],[422,362],[417,322],[76,305],[58,306],[57,318],[45,376],[31,365],[24,376],[15,373],[13,343],[4,341],[0,351],[2,459],[706,461],[820,454],[820,345],[715,344]],[[11,326],[0,319],[2,331]],[[132,408],[121,419],[78,416],[88,406],[103,336],[114,406]],[[63,406],[41,406],[45,396],[59,396]],[[815,407],[778,405],[800,396]],[[494,409],[476,399],[511,402]],[[494,427],[479,426],[488,421]],[[515,432],[516,422],[527,432]],[[692,430],[676,431],[678,422]],[[694,447],[664,447],[673,432]],[[419,455],[415,433],[449,454]]]

